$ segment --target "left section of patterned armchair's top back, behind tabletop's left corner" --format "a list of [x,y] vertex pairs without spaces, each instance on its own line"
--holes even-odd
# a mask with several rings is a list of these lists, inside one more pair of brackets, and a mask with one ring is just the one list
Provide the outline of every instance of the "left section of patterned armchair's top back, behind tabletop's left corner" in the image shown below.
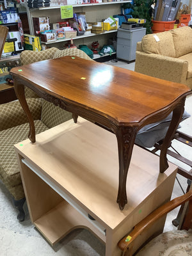
[[37,61],[49,60],[52,59],[54,53],[58,51],[56,47],[51,47],[44,51],[36,52],[36,51],[22,51],[20,53],[20,61],[22,65],[31,64]]

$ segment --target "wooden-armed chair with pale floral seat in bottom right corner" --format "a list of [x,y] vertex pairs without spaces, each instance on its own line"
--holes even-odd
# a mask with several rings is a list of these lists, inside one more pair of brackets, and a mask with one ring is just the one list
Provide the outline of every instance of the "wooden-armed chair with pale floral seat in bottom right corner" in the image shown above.
[[[189,203],[186,203],[189,202]],[[134,241],[142,232],[154,225],[155,221],[172,211],[181,204],[186,203],[180,228],[164,232],[147,243],[138,253],[132,254]],[[192,187],[188,193],[162,205],[140,221],[129,235],[118,243],[122,256],[191,256],[192,255]]]

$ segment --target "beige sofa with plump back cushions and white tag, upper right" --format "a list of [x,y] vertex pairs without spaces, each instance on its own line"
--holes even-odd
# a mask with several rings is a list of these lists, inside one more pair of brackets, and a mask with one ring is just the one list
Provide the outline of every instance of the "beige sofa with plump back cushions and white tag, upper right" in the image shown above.
[[135,71],[192,89],[191,42],[188,26],[143,36],[136,48]]

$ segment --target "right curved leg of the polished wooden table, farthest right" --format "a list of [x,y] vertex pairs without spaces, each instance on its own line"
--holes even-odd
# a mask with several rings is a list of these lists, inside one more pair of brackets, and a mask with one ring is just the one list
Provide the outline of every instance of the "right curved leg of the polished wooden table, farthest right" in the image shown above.
[[173,109],[172,121],[171,121],[170,127],[168,128],[168,131],[166,132],[166,136],[161,146],[160,163],[159,163],[160,164],[159,170],[161,173],[163,173],[168,168],[166,152],[168,150],[168,147],[170,147],[170,143],[173,140],[175,131],[177,130],[177,127],[182,118],[182,114],[184,113],[185,100],[186,100],[186,97],[182,98],[177,104],[177,106]]

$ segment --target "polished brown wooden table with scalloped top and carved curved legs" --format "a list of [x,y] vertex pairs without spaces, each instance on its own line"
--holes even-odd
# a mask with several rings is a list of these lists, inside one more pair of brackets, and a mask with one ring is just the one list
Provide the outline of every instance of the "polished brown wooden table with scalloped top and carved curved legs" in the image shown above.
[[163,120],[173,111],[161,148],[159,170],[168,168],[166,151],[179,125],[186,95],[184,84],[145,76],[124,68],[65,56],[12,68],[16,95],[29,120],[29,139],[35,142],[35,125],[24,95],[24,86],[40,97],[77,116],[92,120],[116,134],[119,159],[117,202],[127,204],[126,180],[132,148],[141,127]]

